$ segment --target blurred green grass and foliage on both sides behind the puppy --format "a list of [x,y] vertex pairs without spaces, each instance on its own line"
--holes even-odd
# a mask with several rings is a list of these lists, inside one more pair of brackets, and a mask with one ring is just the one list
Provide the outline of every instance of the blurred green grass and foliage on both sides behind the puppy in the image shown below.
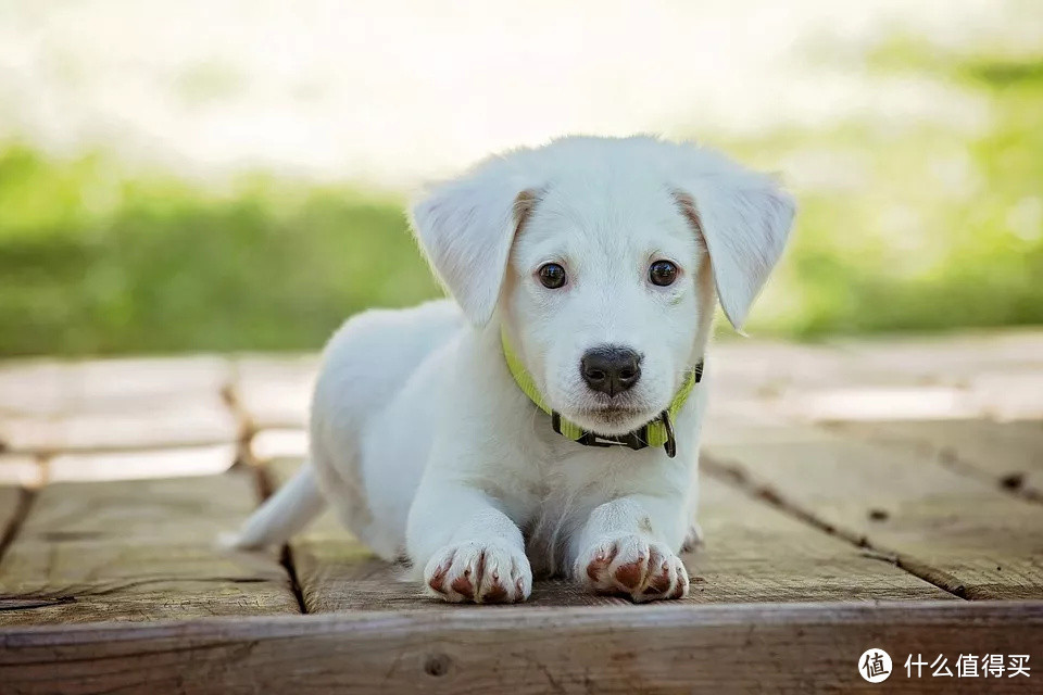
[[[1018,7],[1043,22],[1038,5]],[[959,114],[856,113],[737,134],[676,113],[670,135],[781,170],[799,195],[792,245],[749,330],[817,339],[1043,323],[1043,47],[814,36],[794,49],[807,63],[938,86],[984,115],[968,127]],[[224,89],[222,75],[196,75],[192,98]],[[248,165],[213,184],[127,164],[104,142],[54,152],[10,127],[0,355],[314,350],[353,312],[436,295],[405,187],[359,179]]]

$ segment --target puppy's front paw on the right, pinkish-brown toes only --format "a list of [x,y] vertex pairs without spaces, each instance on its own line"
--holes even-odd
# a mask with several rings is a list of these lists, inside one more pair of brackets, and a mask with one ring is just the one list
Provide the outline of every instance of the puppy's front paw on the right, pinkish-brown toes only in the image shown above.
[[590,591],[624,594],[637,603],[688,594],[688,570],[681,559],[642,535],[595,543],[580,555],[575,571]]

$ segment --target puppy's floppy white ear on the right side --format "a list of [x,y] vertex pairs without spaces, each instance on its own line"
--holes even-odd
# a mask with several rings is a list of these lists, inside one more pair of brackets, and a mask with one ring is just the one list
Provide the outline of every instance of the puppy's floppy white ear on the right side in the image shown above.
[[682,182],[675,198],[706,244],[725,315],[741,328],[782,255],[793,198],[771,177],[736,165]]

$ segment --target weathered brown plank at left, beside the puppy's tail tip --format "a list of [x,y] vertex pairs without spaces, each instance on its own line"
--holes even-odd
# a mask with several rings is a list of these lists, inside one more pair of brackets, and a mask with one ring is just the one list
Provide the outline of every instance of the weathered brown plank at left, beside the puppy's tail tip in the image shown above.
[[274,555],[222,554],[246,473],[41,490],[0,560],[0,624],[298,612]]

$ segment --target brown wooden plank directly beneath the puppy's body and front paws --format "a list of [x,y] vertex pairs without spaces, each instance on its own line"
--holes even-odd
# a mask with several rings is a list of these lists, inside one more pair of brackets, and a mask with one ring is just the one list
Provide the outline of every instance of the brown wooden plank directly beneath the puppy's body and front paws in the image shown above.
[[[298,467],[272,465],[277,483]],[[893,564],[797,521],[724,483],[704,479],[701,515],[705,547],[688,554],[689,603],[914,601],[954,596]],[[309,612],[343,610],[451,609],[425,597],[418,584],[402,581],[405,568],[389,565],[325,514],[291,542],[298,582]],[[539,581],[529,605],[608,605],[573,582]]]

